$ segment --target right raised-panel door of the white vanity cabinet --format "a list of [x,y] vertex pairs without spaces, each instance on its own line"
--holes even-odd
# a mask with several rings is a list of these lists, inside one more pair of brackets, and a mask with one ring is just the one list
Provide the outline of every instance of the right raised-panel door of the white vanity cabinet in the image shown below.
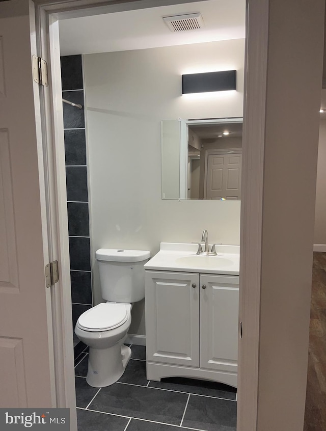
[[201,368],[237,372],[238,302],[239,277],[200,276]]

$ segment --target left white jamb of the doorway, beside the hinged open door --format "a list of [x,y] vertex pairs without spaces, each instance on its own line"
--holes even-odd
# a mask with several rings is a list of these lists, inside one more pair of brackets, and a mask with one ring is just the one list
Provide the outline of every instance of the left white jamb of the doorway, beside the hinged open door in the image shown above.
[[57,408],[70,408],[70,427],[74,431],[77,421],[61,68],[60,62],[52,61],[56,57],[53,47],[59,40],[59,28],[57,20],[36,4],[35,21],[35,55],[47,62],[49,76],[56,76],[50,79],[48,87],[39,87],[49,259],[59,262],[59,281],[51,288],[55,401]]

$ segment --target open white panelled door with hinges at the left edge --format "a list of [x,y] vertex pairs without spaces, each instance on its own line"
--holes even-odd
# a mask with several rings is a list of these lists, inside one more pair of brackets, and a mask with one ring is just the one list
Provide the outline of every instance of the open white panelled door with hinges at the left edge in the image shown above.
[[[29,2],[0,3],[0,407],[55,407]],[[44,233],[44,234],[43,234]]]

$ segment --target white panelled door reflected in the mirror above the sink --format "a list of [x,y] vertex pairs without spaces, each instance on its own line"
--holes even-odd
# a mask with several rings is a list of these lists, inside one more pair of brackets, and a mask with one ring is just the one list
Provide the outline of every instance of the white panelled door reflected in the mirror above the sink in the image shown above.
[[241,155],[208,155],[206,199],[240,199]]

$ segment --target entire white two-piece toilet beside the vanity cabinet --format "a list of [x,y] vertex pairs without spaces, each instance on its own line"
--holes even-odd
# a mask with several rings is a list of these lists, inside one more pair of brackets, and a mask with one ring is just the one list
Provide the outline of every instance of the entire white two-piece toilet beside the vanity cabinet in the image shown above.
[[101,303],[79,316],[75,334],[89,346],[86,381],[94,388],[117,382],[131,356],[123,344],[131,324],[134,302],[145,297],[144,263],[150,252],[144,250],[99,249],[96,252]]

